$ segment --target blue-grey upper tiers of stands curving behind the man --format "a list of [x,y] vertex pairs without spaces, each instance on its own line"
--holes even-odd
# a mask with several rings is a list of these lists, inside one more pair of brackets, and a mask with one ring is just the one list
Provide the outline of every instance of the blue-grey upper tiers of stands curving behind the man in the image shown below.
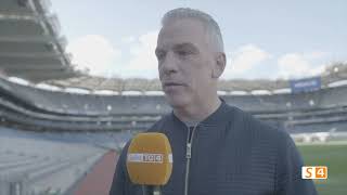
[[[41,129],[143,130],[170,112],[160,95],[67,93],[4,79],[0,79],[0,108],[7,109],[5,119]],[[347,87],[336,87],[297,94],[221,98],[270,125],[293,129],[346,120],[342,118],[347,113],[346,94]]]

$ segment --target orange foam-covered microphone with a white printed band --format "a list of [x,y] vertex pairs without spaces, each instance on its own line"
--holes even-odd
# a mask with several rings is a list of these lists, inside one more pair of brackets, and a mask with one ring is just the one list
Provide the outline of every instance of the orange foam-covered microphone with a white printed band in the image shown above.
[[163,133],[139,133],[128,147],[130,181],[142,185],[144,194],[160,195],[160,186],[170,179],[172,161],[169,140]]

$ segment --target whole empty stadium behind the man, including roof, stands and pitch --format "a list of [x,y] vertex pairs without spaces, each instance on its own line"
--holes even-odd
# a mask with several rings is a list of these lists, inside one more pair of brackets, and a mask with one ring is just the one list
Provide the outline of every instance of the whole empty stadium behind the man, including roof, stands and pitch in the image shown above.
[[[47,1],[0,1],[0,194],[107,194],[117,155],[171,112],[158,79],[77,70]],[[228,104],[285,128],[321,194],[345,194],[347,64],[298,80],[221,80]]]

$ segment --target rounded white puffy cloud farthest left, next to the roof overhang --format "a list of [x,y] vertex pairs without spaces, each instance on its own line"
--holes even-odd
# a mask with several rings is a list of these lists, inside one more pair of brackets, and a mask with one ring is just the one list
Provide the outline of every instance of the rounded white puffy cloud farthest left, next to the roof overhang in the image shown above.
[[73,54],[73,64],[89,69],[90,75],[107,76],[120,58],[120,50],[100,35],[87,35],[69,42],[66,51]]

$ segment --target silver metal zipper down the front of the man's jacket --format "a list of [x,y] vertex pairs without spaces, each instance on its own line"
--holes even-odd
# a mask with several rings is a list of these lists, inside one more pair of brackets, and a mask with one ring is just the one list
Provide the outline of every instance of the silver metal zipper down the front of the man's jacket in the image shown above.
[[188,190],[189,190],[189,171],[190,171],[190,162],[192,157],[192,145],[193,145],[194,132],[197,126],[198,125],[194,126],[192,135],[191,135],[191,129],[188,127],[187,150],[185,150],[187,164],[185,164],[184,195],[188,195]]

